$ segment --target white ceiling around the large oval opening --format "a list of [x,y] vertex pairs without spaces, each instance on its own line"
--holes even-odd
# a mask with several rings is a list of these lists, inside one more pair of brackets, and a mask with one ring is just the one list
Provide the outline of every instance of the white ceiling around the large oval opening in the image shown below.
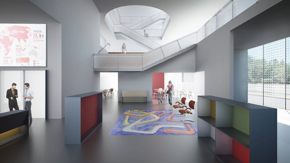
[[[161,44],[197,31],[229,0],[93,0],[104,19],[115,8],[142,5],[158,8],[170,16],[170,24]],[[103,13],[103,14],[102,14]]]

